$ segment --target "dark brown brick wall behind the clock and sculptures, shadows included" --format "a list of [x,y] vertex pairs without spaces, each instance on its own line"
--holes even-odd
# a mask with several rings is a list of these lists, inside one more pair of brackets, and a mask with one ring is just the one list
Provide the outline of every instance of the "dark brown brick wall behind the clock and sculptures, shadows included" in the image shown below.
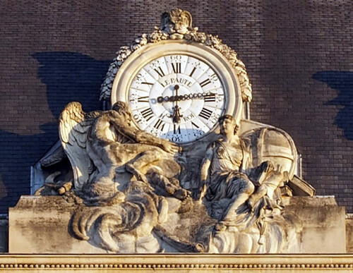
[[185,8],[246,64],[251,117],[287,131],[304,178],[353,212],[353,2],[1,1],[0,212],[28,194],[30,166],[58,138],[67,102],[100,108],[120,46]]

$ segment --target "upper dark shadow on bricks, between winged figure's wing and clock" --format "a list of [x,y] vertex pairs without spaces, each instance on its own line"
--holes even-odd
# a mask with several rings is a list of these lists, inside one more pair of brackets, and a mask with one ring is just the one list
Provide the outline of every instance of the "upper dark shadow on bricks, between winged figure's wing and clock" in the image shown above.
[[85,111],[100,108],[100,85],[110,61],[73,52],[40,52],[32,57],[40,62],[38,77],[47,85],[49,108],[56,119],[68,102],[80,102]]

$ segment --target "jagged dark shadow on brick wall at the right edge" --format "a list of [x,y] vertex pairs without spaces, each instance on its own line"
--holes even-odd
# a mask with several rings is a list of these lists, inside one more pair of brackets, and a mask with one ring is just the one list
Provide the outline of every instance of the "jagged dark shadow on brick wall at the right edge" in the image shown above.
[[337,97],[325,105],[343,107],[335,117],[335,124],[344,131],[347,140],[353,140],[353,72],[321,71],[313,74],[313,79],[338,91]]

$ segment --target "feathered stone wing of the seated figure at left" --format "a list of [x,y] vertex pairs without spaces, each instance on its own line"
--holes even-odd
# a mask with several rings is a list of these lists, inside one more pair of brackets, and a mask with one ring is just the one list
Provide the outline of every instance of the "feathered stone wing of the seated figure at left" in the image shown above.
[[87,131],[97,114],[85,114],[79,102],[70,102],[59,118],[61,145],[70,160],[76,189],[87,183],[93,171],[93,164],[86,151]]

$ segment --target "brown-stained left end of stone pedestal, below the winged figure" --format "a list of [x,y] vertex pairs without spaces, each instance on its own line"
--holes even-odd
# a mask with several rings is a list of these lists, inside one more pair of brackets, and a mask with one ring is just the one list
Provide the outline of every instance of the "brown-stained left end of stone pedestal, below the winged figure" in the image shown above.
[[107,253],[68,232],[77,210],[60,196],[23,195],[9,209],[9,253]]

